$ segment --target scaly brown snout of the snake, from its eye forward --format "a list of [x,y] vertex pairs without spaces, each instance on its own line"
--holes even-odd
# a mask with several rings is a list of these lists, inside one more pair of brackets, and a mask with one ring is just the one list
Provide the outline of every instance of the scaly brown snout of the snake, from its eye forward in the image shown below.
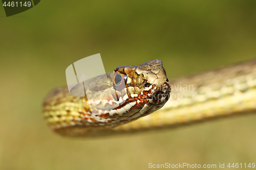
[[113,75],[117,73],[125,77],[125,92],[121,93],[124,94],[122,100],[125,102],[116,109],[121,111],[122,107],[127,108],[116,113],[119,116],[137,119],[160,109],[168,101],[170,87],[161,60],[119,66],[114,69]]

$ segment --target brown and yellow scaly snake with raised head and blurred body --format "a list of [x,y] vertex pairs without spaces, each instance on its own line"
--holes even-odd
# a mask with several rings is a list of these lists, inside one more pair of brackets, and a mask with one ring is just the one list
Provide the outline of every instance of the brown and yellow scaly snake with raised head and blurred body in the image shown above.
[[[65,137],[170,129],[256,110],[256,59],[168,80],[161,60],[118,66],[86,82],[90,98],[52,90],[42,113]],[[88,94],[88,93],[86,93]]]

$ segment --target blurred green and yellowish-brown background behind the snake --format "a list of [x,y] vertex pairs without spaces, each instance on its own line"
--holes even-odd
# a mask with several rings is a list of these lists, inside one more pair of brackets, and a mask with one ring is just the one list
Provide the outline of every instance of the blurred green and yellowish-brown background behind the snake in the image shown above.
[[66,68],[100,53],[105,70],[161,59],[169,79],[256,55],[256,1],[47,1],[0,7],[0,169],[147,169],[256,162],[256,116],[130,136],[53,134],[41,104]]

